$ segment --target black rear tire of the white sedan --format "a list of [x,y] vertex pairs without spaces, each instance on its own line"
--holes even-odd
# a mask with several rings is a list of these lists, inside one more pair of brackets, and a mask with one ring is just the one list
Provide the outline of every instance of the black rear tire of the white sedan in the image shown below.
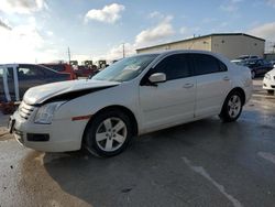
[[[235,98],[235,97],[238,97],[238,101],[240,101],[240,106],[239,106],[239,103],[235,103],[235,107],[230,106],[233,98]],[[242,108],[243,108],[243,103],[244,103],[243,99],[244,99],[243,95],[241,92],[239,92],[238,90],[231,91],[223,102],[221,112],[219,115],[220,119],[223,122],[235,121],[240,117],[240,115],[242,113]],[[238,109],[238,111],[235,111],[235,113],[232,115],[232,108],[234,110],[234,108],[237,108],[237,107],[240,107],[240,108]]]

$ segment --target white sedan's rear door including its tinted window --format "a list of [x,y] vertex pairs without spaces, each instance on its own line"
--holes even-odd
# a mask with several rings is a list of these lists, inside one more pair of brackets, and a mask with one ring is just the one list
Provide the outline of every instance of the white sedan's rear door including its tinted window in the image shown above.
[[195,117],[217,115],[231,88],[227,66],[208,54],[193,54],[197,92]]

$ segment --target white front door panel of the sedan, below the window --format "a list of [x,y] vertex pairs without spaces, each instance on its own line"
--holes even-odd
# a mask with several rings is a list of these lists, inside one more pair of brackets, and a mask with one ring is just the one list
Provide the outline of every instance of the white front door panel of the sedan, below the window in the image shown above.
[[154,86],[140,87],[142,131],[194,119],[196,78],[175,79]]

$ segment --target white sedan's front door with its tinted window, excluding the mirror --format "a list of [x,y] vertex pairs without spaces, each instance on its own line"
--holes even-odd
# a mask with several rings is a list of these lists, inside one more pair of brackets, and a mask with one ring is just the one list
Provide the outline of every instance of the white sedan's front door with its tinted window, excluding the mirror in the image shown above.
[[146,132],[179,124],[194,119],[196,78],[187,54],[165,57],[148,74],[164,73],[166,81],[156,86],[140,86],[140,106],[143,129]]

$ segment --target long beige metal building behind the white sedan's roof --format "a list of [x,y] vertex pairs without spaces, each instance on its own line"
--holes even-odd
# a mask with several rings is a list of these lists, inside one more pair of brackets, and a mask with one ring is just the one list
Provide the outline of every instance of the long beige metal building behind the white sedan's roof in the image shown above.
[[164,50],[202,50],[220,53],[230,59],[241,55],[264,56],[265,40],[244,33],[216,33],[177,42],[165,43],[144,48],[136,53],[150,53]]

